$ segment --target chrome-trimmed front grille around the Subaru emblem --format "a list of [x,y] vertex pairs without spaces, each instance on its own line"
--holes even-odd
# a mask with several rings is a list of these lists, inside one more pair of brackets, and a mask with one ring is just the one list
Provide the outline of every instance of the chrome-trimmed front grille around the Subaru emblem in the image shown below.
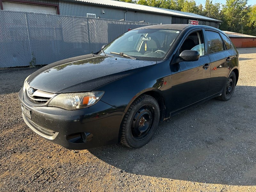
[[54,93],[49,93],[49,92],[44,92],[41,90],[37,90],[37,89],[33,89],[33,94],[28,94],[28,89],[30,89],[32,87],[29,86],[29,84],[26,82],[25,83],[25,92],[24,94],[26,94],[26,96],[28,97],[28,99],[35,103],[35,104],[44,104],[47,103],[49,99],[51,99],[53,96],[55,96],[56,94]]

